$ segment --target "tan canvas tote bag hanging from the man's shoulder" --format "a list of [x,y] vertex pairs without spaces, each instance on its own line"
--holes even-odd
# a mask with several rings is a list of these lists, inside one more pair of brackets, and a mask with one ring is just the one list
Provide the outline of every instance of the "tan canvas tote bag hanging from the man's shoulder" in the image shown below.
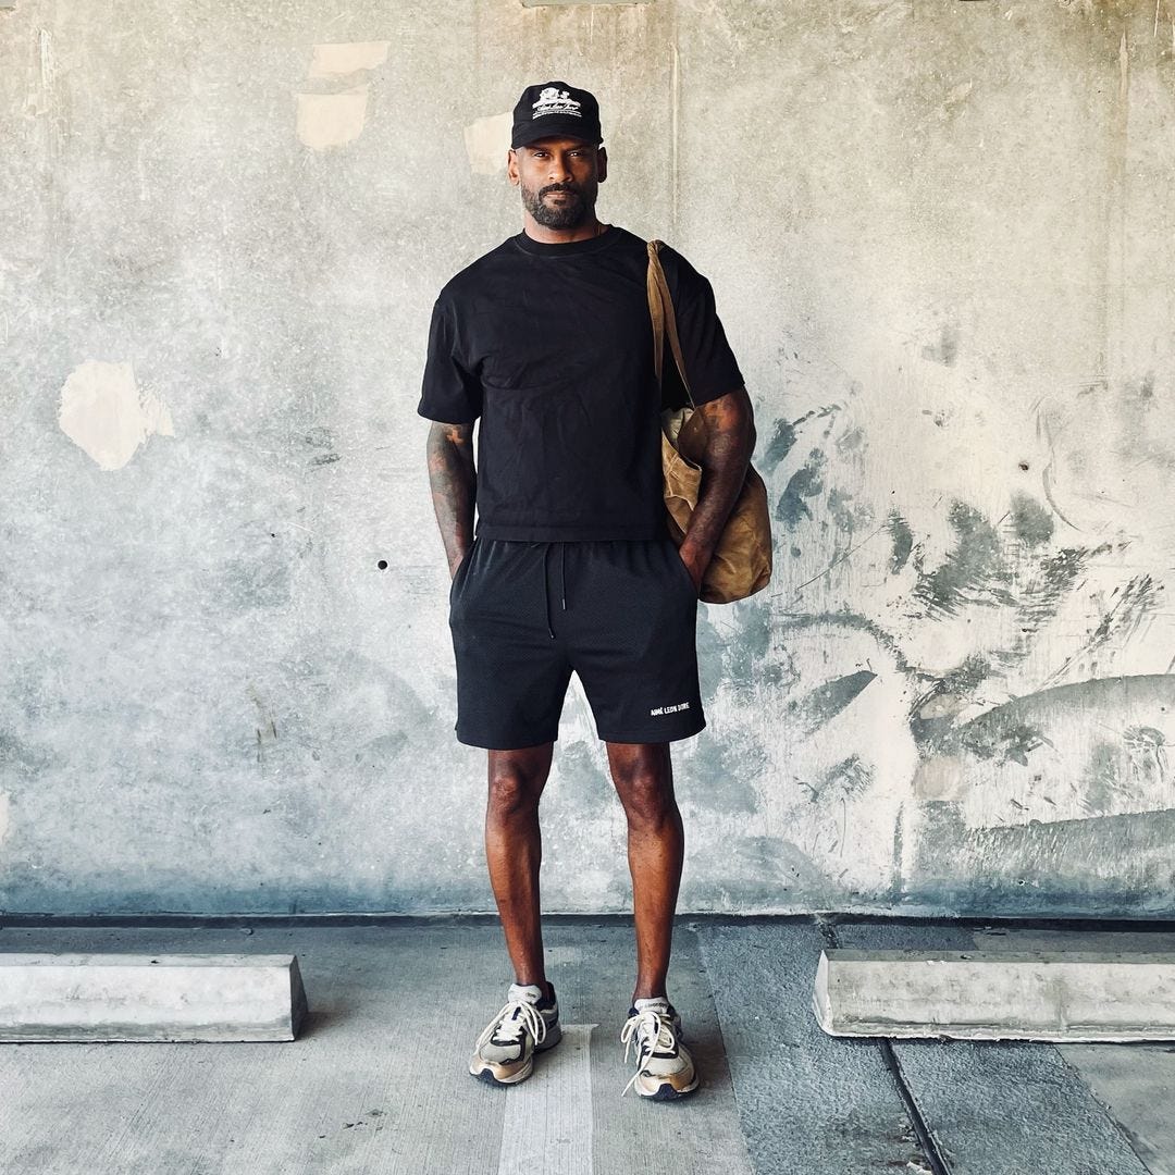
[[[682,377],[682,385],[690,396],[673,300],[658,256],[660,246],[660,241],[649,242],[649,313],[653,322],[657,382],[660,383],[662,380],[665,336],[669,335],[673,362]],[[665,508],[669,510],[670,531],[679,546],[690,525],[690,516],[698,504],[701,458],[706,451],[706,419],[692,404],[693,397],[690,396],[690,404],[685,408],[665,409],[662,412]],[[700,598],[707,604],[730,604],[761,591],[771,582],[771,553],[767,486],[748,464],[746,481],[703,577]]]

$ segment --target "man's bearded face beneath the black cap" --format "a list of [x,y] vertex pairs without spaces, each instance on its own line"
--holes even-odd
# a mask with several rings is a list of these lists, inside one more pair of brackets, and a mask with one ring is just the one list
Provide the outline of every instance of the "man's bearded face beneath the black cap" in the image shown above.
[[582,139],[539,139],[510,150],[510,182],[526,212],[544,228],[578,228],[596,209],[607,176],[603,147]]

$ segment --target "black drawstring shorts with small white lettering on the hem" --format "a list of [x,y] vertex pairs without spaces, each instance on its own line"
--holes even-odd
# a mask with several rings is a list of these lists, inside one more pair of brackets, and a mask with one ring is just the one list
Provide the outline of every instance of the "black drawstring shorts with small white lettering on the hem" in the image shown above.
[[697,589],[667,536],[478,536],[449,590],[457,740],[494,751],[553,743],[572,671],[605,741],[697,734]]

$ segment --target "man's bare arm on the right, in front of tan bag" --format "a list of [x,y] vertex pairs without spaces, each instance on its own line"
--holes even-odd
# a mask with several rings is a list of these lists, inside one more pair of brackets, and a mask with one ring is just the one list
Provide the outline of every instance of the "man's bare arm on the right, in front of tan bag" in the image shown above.
[[701,578],[743,489],[756,431],[754,409],[745,388],[699,404],[697,411],[706,422],[706,452],[701,458],[698,505],[679,551],[700,591]]

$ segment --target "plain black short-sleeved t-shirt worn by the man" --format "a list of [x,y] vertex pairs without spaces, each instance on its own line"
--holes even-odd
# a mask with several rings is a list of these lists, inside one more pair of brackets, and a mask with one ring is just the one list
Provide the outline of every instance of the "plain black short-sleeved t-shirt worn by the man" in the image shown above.
[[[694,404],[738,390],[710,282],[674,250],[660,256]],[[519,233],[441,291],[417,411],[449,424],[481,417],[478,535],[669,533],[647,264],[645,242],[615,226],[565,244]],[[666,348],[666,400],[672,369]]]

